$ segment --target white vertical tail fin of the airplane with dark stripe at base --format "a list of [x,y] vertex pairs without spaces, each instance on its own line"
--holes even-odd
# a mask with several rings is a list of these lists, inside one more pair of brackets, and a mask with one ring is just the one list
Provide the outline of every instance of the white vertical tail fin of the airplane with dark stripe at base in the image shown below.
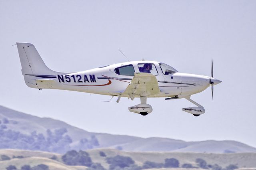
[[57,72],[49,69],[45,65],[33,44],[17,42],[17,47],[22,67],[21,71],[22,75],[24,75],[26,85],[32,88],[38,88],[36,79],[56,77]]

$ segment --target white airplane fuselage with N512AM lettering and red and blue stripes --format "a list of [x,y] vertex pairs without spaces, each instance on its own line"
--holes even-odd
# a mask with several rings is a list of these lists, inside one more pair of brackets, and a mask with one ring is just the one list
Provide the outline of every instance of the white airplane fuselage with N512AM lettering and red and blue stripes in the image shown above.
[[26,77],[28,79],[55,80],[54,83],[41,86],[39,84],[33,85],[28,83],[30,87],[34,88],[62,89],[118,96],[130,84],[134,75],[120,75],[115,73],[115,69],[126,65],[132,65],[135,72],[140,72],[138,67],[138,64],[140,63],[152,63],[156,67],[157,71],[157,75],[155,76],[161,93],[157,95],[149,95],[148,97],[182,97],[200,93],[210,86],[210,77],[208,76],[179,72],[164,75],[162,69],[160,68],[159,62],[157,61],[130,61],[75,73],[56,72],[56,74],[51,75],[26,75]]

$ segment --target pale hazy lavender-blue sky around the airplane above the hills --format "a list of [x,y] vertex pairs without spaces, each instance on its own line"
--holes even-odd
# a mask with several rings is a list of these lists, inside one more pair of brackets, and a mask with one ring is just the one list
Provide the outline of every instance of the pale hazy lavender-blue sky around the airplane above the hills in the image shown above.
[[[183,112],[186,99],[139,103],[88,93],[31,89],[24,83],[16,42],[33,43],[56,71],[83,71],[130,60],[156,60],[182,73],[222,83],[191,98],[200,117]],[[238,140],[256,147],[256,1],[254,0],[0,0],[0,105],[51,117],[91,132],[186,141]]]

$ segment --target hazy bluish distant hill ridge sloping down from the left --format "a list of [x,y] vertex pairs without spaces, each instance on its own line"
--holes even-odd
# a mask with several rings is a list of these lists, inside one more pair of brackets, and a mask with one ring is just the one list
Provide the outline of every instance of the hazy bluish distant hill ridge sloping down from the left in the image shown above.
[[136,152],[256,152],[256,148],[233,140],[186,142],[170,138],[140,138],[88,132],[62,121],[28,115],[3,106],[0,106],[0,148],[58,153],[93,148],[117,148]]

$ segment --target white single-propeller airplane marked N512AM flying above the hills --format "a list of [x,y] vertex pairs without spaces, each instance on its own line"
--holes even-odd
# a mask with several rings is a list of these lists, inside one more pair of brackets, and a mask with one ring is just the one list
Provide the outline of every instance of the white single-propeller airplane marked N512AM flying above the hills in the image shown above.
[[[61,89],[110,95],[133,100],[140,97],[140,104],[129,107],[129,111],[140,115],[148,115],[152,107],[147,104],[148,97],[166,97],[182,99],[194,103],[197,107],[182,110],[199,116],[205,113],[204,107],[190,99],[190,96],[204,91],[207,87],[221,83],[211,77],[179,73],[176,69],[158,61],[129,61],[107,65],[80,72],[57,72],[49,69],[38,51],[31,43],[16,43],[22,75],[28,87],[42,89]],[[111,99],[112,99],[111,98]]]

